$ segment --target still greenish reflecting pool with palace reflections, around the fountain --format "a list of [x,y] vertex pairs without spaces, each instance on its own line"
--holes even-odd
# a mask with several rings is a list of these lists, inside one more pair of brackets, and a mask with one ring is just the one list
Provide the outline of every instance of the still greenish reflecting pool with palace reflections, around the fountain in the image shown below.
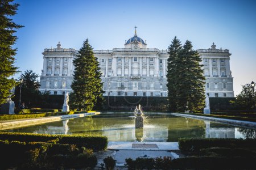
[[211,121],[145,114],[144,128],[135,129],[133,113],[104,113],[42,125],[4,130],[44,134],[103,135],[109,141],[177,142],[178,138],[255,138],[255,130]]

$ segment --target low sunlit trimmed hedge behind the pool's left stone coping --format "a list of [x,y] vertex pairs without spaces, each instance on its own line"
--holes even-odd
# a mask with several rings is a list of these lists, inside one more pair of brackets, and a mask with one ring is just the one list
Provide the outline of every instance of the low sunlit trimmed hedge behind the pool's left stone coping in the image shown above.
[[53,113],[35,113],[35,114],[3,114],[3,115],[0,115],[0,121],[23,119],[23,118],[60,116],[60,115],[71,114],[71,113],[72,112],[53,112]]

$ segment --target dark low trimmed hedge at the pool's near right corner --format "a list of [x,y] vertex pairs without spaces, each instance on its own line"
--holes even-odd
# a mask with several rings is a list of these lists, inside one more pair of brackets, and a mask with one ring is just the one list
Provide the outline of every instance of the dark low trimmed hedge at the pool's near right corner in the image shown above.
[[220,138],[180,138],[181,151],[199,152],[201,148],[229,147],[229,148],[256,148],[255,139],[220,139]]

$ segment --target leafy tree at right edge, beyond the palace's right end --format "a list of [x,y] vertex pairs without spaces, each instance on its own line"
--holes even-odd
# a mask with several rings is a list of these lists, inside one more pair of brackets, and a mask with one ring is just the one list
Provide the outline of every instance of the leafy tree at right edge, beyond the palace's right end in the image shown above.
[[230,101],[237,109],[245,109],[247,111],[253,111],[256,107],[256,91],[251,84],[245,84],[242,86],[242,91],[237,95],[236,100]]

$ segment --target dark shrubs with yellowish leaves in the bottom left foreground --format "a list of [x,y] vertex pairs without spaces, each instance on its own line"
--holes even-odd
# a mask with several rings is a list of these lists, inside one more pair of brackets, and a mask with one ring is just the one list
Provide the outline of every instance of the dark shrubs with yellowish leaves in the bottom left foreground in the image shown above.
[[0,149],[6,153],[1,169],[94,168],[97,164],[92,150],[76,145],[0,141]]

